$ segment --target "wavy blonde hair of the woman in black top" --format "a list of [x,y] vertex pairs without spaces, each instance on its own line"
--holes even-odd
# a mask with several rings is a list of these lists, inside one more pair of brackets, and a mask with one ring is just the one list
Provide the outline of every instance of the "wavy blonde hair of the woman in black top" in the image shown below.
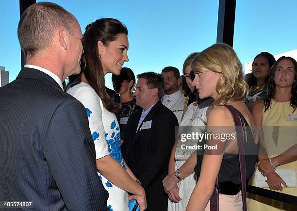
[[198,53],[191,62],[195,73],[211,70],[221,73],[215,90],[214,108],[233,101],[243,100],[247,94],[247,83],[244,81],[242,64],[235,51],[225,43],[217,43]]

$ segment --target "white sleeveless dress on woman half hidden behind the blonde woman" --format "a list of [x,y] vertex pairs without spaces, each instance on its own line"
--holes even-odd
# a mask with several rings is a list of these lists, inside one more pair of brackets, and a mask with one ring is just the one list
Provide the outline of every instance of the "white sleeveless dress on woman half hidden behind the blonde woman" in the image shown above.
[[[191,133],[192,130],[195,128],[195,130],[198,130],[198,132],[203,133],[205,130],[205,122],[206,122],[206,110],[208,109],[208,106],[212,103],[213,99],[207,99],[203,101],[202,103],[198,105],[194,105],[195,102],[191,103],[188,106],[187,111],[183,115],[183,118],[181,120],[181,124],[179,127],[179,134],[181,133]],[[190,126],[190,127],[189,127]],[[195,127],[192,127],[195,126]],[[190,131],[187,131],[190,130]],[[179,140],[181,142],[181,140]],[[195,143],[193,143],[195,144]],[[196,143],[197,144],[197,143]],[[192,145],[192,144],[191,144]],[[177,147],[179,147],[178,145]],[[195,151],[195,150],[194,150]],[[187,156],[181,156],[179,155],[179,150],[176,150],[175,153],[175,170],[179,169],[183,163],[186,162],[186,159],[189,158],[189,155],[191,155],[192,152],[187,152]],[[168,211],[185,211],[187,204],[190,200],[190,196],[196,186],[196,174],[193,173],[184,180],[181,180],[178,183],[179,186],[179,195],[181,197],[181,201],[179,203],[174,203],[168,200]]]

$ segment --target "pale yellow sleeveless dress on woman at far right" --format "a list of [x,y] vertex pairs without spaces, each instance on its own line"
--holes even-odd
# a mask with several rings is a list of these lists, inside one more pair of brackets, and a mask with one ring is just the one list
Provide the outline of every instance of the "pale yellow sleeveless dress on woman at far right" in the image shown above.
[[[293,113],[293,110],[290,102],[274,100],[271,100],[268,111],[264,112],[263,109],[262,126],[268,157],[275,157],[297,144],[297,111]],[[278,166],[277,169],[297,169],[297,161]],[[250,183],[256,186],[255,173]],[[297,188],[283,188],[277,192],[297,196]],[[297,206],[253,194],[248,195],[247,206],[251,211],[297,210]]]

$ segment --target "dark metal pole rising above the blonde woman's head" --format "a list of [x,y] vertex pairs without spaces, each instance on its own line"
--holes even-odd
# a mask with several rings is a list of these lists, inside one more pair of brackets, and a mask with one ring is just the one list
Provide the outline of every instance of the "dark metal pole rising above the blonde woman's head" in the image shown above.
[[217,43],[233,47],[236,0],[220,0],[217,18]]

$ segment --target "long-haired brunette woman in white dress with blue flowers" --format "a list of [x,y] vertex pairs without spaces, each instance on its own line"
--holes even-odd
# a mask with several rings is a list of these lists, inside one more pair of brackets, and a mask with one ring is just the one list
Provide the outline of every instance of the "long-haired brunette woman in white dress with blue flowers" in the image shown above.
[[120,74],[128,62],[128,30],[118,20],[101,18],[89,24],[83,35],[82,73],[69,78],[67,93],[85,107],[96,149],[98,179],[109,193],[109,211],[128,211],[128,192],[134,194],[143,211],[147,207],[145,191],[123,160],[120,130],[115,117],[119,105],[105,89],[107,73]]

